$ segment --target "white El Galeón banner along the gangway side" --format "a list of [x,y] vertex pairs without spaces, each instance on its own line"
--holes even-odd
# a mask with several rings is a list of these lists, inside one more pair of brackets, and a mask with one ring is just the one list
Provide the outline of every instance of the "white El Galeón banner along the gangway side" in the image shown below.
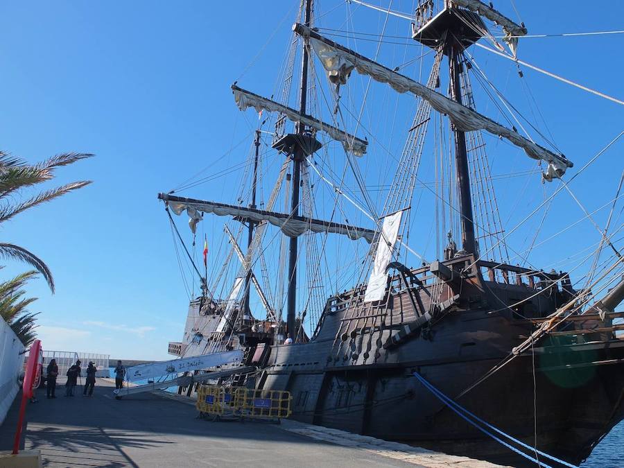
[[128,370],[125,372],[125,379],[128,381],[137,381],[164,376],[177,377],[177,374],[181,374],[182,372],[209,369],[216,365],[239,363],[242,358],[243,351],[241,349],[236,349],[235,351],[173,359],[172,361],[162,361],[160,363],[139,364],[128,367]]

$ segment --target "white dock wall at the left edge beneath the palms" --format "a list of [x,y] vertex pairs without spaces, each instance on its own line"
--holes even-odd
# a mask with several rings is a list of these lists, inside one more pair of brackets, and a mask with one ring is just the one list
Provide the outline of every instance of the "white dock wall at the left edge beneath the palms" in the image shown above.
[[17,391],[17,377],[24,364],[24,345],[11,327],[0,318],[0,424],[4,421]]

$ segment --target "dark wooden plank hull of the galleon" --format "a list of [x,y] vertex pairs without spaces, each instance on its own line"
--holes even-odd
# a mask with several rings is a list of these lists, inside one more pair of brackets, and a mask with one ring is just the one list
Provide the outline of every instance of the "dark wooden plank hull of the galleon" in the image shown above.
[[[445,263],[455,268],[471,261],[467,257]],[[302,422],[521,464],[508,449],[440,403],[413,376],[419,372],[446,395],[456,397],[535,330],[523,317],[552,313],[568,294],[553,286],[563,275],[547,278],[538,272],[530,286],[522,271],[508,271],[506,279],[499,276],[500,281],[485,281],[479,268],[474,266],[460,284],[442,286],[435,286],[425,269],[413,270],[416,282],[424,285],[413,287],[416,309],[429,310],[436,287],[442,300],[453,295],[459,299],[449,310],[434,314],[426,331],[393,347],[384,347],[391,334],[422,313],[415,310],[398,279],[390,281],[392,288],[383,306],[362,304],[362,287],[338,300],[332,298],[309,343],[271,347],[263,369],[266,374],[257,383],[292,392],[292,417]],[[514,274],[521,280],[511,277]],[[546,287],[546,281],[551,281],[551,291],[532,297],[520,308],[512,306]],[[535,360],[529,350],[458,401],[532,444],[535,365],[539,448],[580,462],[624,417],[624,341],[612,337],[592,345],[576,339],[541,340],[535,344]]]

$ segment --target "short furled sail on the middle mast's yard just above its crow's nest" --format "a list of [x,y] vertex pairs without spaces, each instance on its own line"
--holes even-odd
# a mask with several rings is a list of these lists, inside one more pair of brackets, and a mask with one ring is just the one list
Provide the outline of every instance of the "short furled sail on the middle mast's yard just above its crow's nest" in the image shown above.
[[271,101],[267,98],[263,98],[262,96],[258,96],[257,94],[239,88],[236,85],[232,85],[232,92],[234,93],[236,105],[239,106],[240,110],[245,111],[249,107],[254,107],[257,112],[260,112],[261,110],[279,112],[284,114],[288,120],[301,122],[311,128],[314,128],[315,130],[327,133],[327,135],[331,138],[336,141],[340,141],[340,143],[343,144],[345,151],[349,151],[356,156],[362,156],[366,153],[366,146],[368,144],[367,141],[354,137],[353,135],[349,135],[347,132],[343,132],[343,130],[338,129],[333,125],[329,125],[329,123],[324,123],[307,114],[301,114],[291,107],[276,103],[275,101]]

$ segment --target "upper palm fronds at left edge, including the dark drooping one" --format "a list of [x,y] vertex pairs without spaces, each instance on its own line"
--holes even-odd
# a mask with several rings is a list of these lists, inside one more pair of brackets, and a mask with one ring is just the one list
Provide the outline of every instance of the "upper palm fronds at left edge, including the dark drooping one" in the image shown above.
[[[68,166],[80,159],[91,157],[87,153],[64,153],[53,156],[38,164],[27,164],[23,159],[0,151],[0,223],[29,208],[49,202],[69,191],[80,189],[91,183],[85,180],[71,182],[55,189],[42,191],[32,198],[16,201],[15,196],[27,187],[53,179],[54,171],[61,166]],[[54,292],[54,279],[48,266],[35,254],[13,243],[0,242],[0,257],[24,261],[42,274]]]

